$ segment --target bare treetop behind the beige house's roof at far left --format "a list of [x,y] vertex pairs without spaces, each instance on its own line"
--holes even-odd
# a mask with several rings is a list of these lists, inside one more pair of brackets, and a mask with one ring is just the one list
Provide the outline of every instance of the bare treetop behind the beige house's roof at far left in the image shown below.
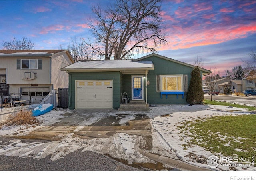
[[34,48],[35,43],[30,38],[22,37],[21,40],[14,38],[10,41],[3,41],[2,46],[4,50],[28,50]]

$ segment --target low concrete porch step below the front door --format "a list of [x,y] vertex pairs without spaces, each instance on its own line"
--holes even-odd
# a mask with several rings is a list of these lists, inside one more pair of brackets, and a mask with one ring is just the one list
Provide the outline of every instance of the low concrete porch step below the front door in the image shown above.
[[118,111],[149,111],[149,104],[145,103],[128,103],[120,104]]

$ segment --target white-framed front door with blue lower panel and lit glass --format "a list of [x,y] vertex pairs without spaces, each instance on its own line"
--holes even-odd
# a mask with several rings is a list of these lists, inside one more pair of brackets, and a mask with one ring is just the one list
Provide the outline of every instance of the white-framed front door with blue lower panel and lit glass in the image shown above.
[[132,100],[143,100],[143,76],[132,76]]

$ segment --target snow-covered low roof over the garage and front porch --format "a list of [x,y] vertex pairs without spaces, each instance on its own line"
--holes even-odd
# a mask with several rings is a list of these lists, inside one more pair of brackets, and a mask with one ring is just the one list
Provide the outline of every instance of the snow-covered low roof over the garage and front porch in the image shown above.
[[134,62],[132,60],[84,60],[70,64],[62,69],[69,72],[120,71],[123,74],[145,73],[154,70],[152,61]]

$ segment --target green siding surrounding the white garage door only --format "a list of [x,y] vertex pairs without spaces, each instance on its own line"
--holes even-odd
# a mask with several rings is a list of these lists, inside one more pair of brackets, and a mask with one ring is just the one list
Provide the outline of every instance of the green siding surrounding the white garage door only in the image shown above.
[[113,80],[113,108],[119,108],[123,89],[120,72],[69,72],[69,108],[75,108],[76,80]]

